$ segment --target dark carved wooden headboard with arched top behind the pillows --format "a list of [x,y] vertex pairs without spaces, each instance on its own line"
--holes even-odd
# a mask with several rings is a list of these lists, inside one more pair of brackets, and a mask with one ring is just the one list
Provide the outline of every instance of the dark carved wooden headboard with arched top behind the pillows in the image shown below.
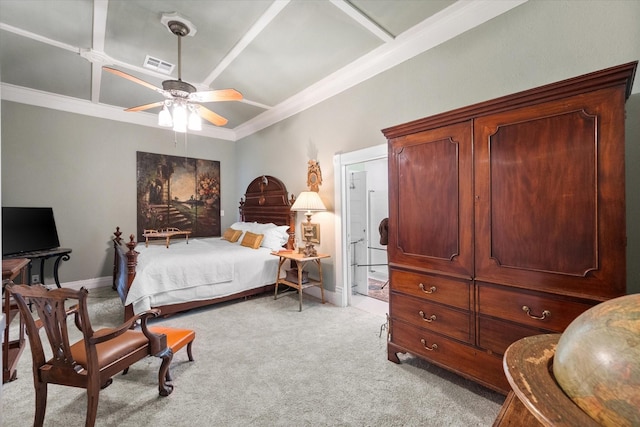
[[244,222],[272,222],[289,226],[287,249],[293,249],[296,235],[296,213],[291,210],[295,196],[278,178],[262,175],[247,186],[244,198],[240,199],[240,218]]

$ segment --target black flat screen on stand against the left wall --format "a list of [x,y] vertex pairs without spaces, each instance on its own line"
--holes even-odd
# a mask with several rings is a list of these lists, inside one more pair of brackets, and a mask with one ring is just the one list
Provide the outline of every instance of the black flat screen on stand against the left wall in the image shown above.
[[52,208],[2,207],[2,256],[59,246]]

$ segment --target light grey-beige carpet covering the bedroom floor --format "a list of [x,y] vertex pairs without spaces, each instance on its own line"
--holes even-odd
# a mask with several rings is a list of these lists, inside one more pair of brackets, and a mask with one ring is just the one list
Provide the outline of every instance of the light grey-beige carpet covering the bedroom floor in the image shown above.
[[[94,326],[119,322],[110,289],[90,294]],[[159,360],[147,358],[100,393],[98,426],[490,426],[504,397],[419,359],[387,360],[385,322],[356,308],[289,292],[194,310],[158,323],[196,330],[175,389],[158,396]],[[31,355],[3,385],[2,426],[33,422]],[[45,426],[84,425],[84,390],[49,386]]]

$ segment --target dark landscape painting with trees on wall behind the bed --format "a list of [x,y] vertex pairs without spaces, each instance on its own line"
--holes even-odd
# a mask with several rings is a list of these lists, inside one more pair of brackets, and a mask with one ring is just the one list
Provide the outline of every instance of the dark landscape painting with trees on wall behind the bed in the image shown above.
[[137,233],[168,227],[220,236],[220,162],[136,152]]

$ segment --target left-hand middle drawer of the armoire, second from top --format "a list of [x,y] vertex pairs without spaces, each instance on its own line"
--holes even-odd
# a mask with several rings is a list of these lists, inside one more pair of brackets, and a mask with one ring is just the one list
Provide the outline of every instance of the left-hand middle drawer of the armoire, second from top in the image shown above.
[[452,338],[472,342],[473,316],[447,306],[403,294],[390,295],[391,317]]

